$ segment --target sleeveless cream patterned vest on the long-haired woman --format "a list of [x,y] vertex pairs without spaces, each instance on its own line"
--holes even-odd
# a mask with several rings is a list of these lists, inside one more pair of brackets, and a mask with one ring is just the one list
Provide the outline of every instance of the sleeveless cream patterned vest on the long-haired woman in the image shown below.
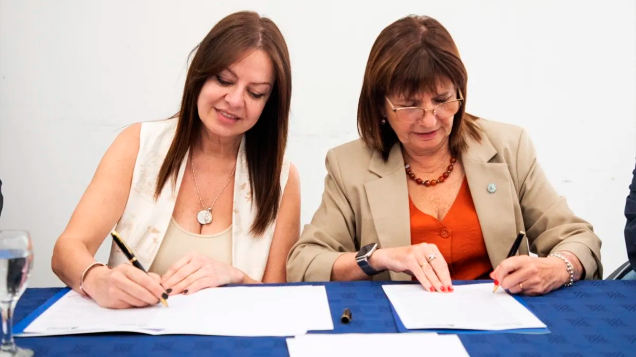
[[[130,194],[128,194],[123,215],[115,226],[116,231],[132,248],[146,270],[150,268],[162,243],[186,168],[188,154],[184,157],[181,168],[179,168],[174,192],[172,180],[168,180],[161,195],[155,201],[157,176],[172,143],[176,128],[176,118],[142,123],[139,135],[139,154],[137,154],[132,174]],[[288,175],[289,161],[285,159],[280,172],[281,192],[284,192]],[[275,222],[270,224],[263,236],[256,237],[250,234],[249,229],[256,217],[256,205],[252,206],[251,195],[244,137],[240,144],[234,179],[232,262],[233,266],[252,279],[262,280],[272,245]],[[108,266],[114,267],[127,261],[125,255],[113,242]]]

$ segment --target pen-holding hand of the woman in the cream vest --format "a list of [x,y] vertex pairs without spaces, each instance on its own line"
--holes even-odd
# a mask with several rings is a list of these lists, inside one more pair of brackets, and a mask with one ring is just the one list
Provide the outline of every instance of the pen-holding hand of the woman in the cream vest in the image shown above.
[[155,273],[144,273],[130,264],[120,264],[113,269],[94,267],[86,273],[84,290],[99,306],[111,309],[144,307],[167,299]]

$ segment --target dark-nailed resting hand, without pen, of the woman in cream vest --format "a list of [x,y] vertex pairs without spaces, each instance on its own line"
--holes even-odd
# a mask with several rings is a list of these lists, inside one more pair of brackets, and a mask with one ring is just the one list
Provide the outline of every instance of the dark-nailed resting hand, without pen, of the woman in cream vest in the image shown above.
[[163,274],[162,286],[172,289],[169,295],[193,293],[204,288],[213,288],[228,284],[240,284],[244,274],[239,269],[197,252],[185,257]]

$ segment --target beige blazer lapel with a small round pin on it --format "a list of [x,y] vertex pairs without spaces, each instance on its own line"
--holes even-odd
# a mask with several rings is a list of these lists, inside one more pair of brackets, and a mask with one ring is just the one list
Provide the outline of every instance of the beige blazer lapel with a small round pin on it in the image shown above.
[[[471,141],[462,164],[493,268],[506,259],[516,238],[515,187],[506,163],[491,163],[497,151],[485,135]],[[490,185],[490,187],[489,187]],[[526,250],[522,245],[520,251]]]

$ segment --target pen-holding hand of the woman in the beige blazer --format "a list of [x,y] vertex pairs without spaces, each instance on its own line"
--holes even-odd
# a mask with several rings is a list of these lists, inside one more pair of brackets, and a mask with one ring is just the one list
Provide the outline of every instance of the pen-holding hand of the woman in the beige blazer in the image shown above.
[[570,274],[557,257],[517,255],[501,262],[490,278],[510,293],[543,295],[570,281]]

